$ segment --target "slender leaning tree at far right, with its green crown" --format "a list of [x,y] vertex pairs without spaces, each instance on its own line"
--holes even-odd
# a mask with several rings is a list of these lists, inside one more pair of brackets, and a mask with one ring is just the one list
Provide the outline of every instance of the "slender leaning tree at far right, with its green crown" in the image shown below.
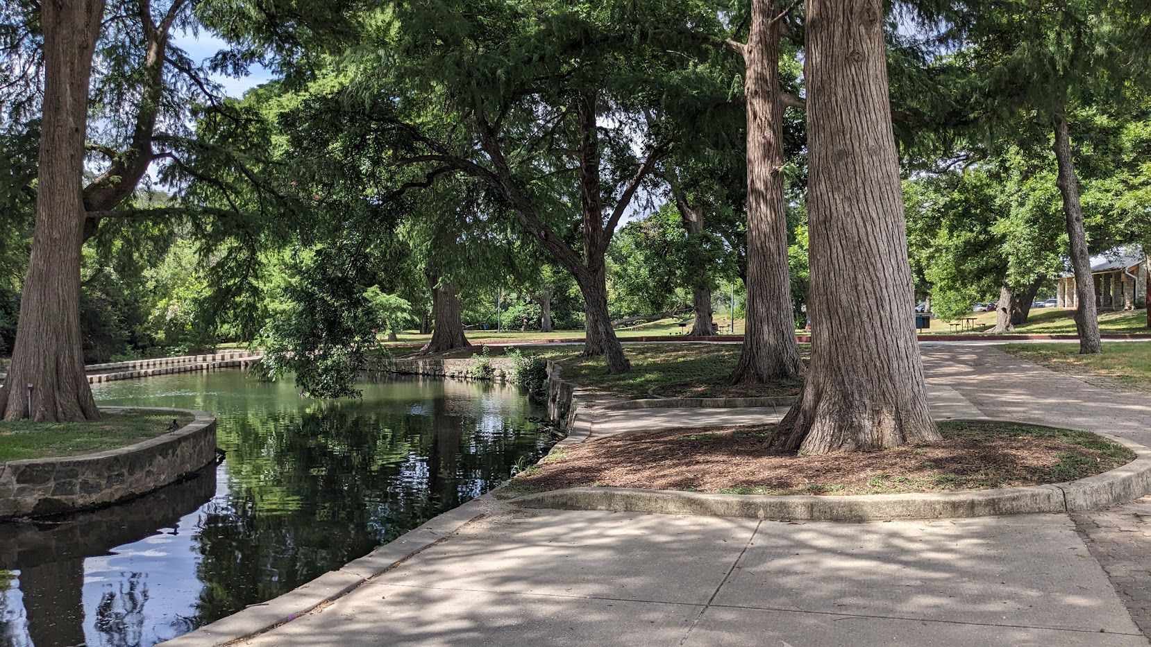
[[[1081,353],[1099,353],[1091,241],[1084,226],[1073,115],[1091,106],[1127,103],[1144,84],[1151,30],[1148,6],[1128,0],[989,0],[962,3],[952,41],[970,45],[954,60],[975,76],[966,92],[975,123],[999,133],[1045,134],[1054,152],[1062,198]],[[1019,137],[1003,138],[1009,144]]]

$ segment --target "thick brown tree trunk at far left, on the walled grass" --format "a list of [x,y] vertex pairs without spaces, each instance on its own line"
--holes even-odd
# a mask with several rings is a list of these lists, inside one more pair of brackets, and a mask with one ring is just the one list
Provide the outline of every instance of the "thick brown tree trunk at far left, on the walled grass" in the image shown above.
[[36,230],[0,414],[6,419],[79,422],[99,417],[81,348],[79,265],[87,86],[104,0],[47,1],[41,7],[45,75]]

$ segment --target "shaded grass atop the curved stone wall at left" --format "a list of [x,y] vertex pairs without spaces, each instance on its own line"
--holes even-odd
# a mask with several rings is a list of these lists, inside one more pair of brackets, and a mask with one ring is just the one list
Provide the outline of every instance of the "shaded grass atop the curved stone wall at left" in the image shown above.
[[180,426],[192,422],[186,414],[131,410],[87,423],[0,421],[0,463],[125,447],[167,433],[173,418]]

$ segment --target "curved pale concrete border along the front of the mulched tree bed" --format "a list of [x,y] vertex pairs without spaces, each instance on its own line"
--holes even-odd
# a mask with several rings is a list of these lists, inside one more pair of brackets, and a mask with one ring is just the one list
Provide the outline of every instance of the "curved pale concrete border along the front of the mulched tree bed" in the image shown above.
[[1151,449],[1108,433],[1092,433],[1131,449],[1136,454],[1135,460],[1070,483],[967,492],[770,496],[631,487],[570,487],[525,494],[508,502],[521,508],[861,522],[1067,513],[1122,503],[1151,492]]

